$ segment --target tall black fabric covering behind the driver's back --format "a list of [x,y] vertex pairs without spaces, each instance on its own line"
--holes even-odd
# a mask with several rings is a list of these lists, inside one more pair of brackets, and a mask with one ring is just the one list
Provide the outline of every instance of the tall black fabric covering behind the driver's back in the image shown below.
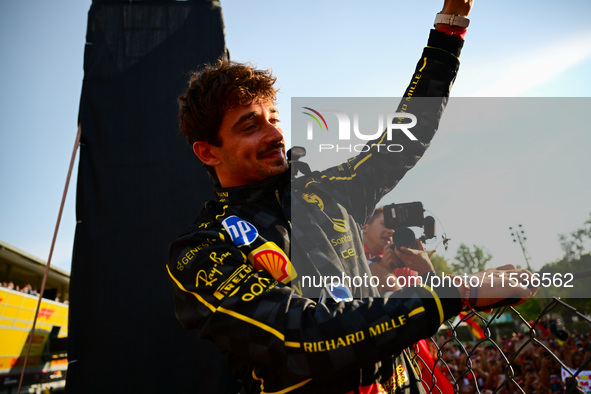
[[68,393],[237,393],[174,316],[169,243],[212,196],[178,131],[190,71],[226,53],[219,2],[95,1],[88,15]]

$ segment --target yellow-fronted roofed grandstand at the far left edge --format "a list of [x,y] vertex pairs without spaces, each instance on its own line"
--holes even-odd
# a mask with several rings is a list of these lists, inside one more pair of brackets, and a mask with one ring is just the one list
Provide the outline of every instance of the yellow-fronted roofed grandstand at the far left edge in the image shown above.
[[[39,303],[38,295],[16,288],[30,284],[40,290],[45,268],[41,259],[0,241],[0,284],[4,285],[0,287],[0,393],[18,385]],[[12,288],[5,287],[8,284]],[[50,269],[45,288],[47,297],[67,299],[69,274]],[[43,298],[28,351],[23,387],[63,385],[68,367],[67,337],[68,304]]]

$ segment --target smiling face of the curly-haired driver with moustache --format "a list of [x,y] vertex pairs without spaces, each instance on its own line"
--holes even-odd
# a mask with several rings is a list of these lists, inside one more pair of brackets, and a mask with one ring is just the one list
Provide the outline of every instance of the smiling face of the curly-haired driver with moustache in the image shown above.
[[223,187],[258,183],[287,170],[278,115],[267,100],[226,111],[219,131],[221,146],[209,146]]

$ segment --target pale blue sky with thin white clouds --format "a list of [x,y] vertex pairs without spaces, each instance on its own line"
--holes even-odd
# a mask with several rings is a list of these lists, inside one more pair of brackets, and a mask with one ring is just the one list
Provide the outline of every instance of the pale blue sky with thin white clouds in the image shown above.
[[[278,76],[290,143],[292,97],[400,96],[442,1],[221,4],[232,59],[272,67]],[[90,5],[0,2],[0,240],[44,260],[74,148]],[[424,160],[384,201],[420,200],[431,208],[452,238],[445,257],[465,243],[485,246],[492,265],[523,264],[508,230],[522,224],[531,264],[539,268],[562,256],[558,235],[589,218],[591,136],[583,123],[591,104],[589,15],[588,0],[475,1],[452,91],[460,100],[451,102]],[[483,97],[526,108],[536,105],[533,98],[549,97],[560,112],[526,112],[529,121],[511,124],[519,132],[513,138],[499,117],[487,118],[490,111],[452,108]],[[483,122],[473,131],[464,118]],[[76,168],[77,162],[52,258],[67,271]]]

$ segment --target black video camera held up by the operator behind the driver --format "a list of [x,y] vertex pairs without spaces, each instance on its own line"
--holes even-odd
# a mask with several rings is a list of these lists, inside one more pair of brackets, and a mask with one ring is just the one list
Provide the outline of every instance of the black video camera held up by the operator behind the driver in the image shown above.
[[415,233],[409,227],[423,229],[419,238],[423,242],[435,238],[435,219],[424,216],[424,212],[423,203],[419,201],[384,206],[384,225],[394,230],[392,241],[395,247],[415,245]]

